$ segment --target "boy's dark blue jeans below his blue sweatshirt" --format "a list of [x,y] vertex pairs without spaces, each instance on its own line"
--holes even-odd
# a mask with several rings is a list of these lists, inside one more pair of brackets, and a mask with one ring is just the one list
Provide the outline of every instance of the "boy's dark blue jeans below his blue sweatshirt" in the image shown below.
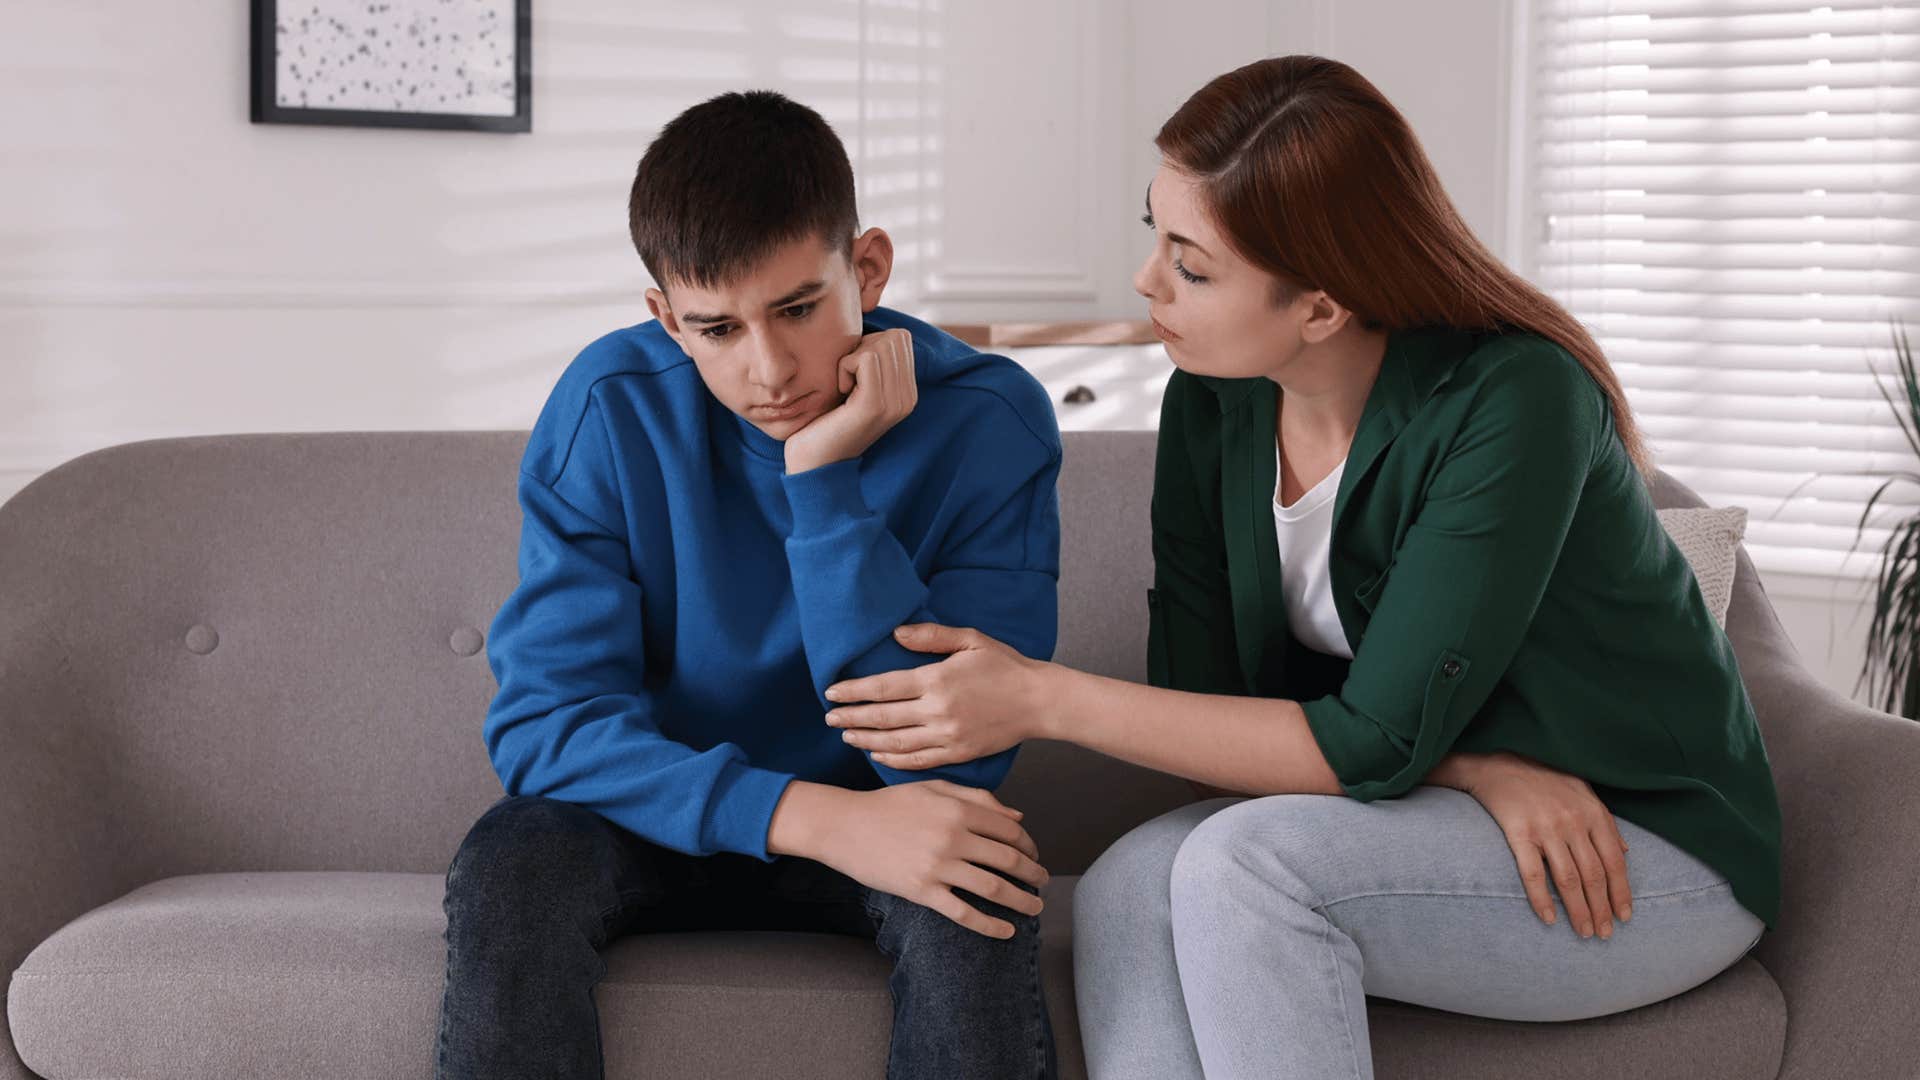
[[614,938],[814,930],[868,938],[893,959],[889,1080],[1050,1080],[1039,919],[958,896],[1010,920],[1014,938],[975,934],[810,859],[684,855],[572,803],[503,798],[447,869],[438,1076],[599,1080],[591,990]]

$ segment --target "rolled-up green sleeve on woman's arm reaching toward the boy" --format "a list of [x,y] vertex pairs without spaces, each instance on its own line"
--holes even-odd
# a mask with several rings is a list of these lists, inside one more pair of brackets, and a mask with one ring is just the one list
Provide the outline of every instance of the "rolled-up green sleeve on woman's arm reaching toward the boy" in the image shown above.
[[1419,784],[1500,684],[1611,438],[1605,394],[1549,342],[1528,338],[1475,392],[1346,682],[1300,703],[1356,799]]

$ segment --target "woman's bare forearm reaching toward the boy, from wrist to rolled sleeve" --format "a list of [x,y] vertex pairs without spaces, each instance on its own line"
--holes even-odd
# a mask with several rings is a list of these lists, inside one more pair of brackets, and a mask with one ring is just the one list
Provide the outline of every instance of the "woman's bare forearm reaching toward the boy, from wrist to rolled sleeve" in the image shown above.
[[1046,665],[1041,738],[1252,796],[1338,796],[1300,703],[1162,690]]

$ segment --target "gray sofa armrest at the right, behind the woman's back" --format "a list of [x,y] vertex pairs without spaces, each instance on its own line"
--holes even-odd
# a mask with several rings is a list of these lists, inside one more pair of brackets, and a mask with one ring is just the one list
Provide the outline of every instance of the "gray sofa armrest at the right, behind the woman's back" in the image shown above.
[[1788,1001],[1780,1076],[1905,1076],[1920,1061],[1920,724],[1797,657],[1743,675],[1784,824],[1780,924],[1755,951]]

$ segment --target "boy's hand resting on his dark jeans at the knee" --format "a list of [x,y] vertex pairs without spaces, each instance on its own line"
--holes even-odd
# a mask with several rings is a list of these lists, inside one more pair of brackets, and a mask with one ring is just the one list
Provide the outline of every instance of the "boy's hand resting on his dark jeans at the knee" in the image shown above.
[[[1021,813],[991,792],[922,780],[876,792],[808,786],[801,796],[810,799],[816,792],[831,792],[822,809],[801,809],[812,817],[804,834],[816,840],[787,853],[818,859],[868,888],[939,911],[989,938],[1012,938],[1014,924],[966,903],[956,888],[1012,911],[1041,913],[1041,897],[1000,874],[1033,888],[1044,886],[1050,874],[1020,824]],[[785,834],[781,809],[774,813],[776,830]]]

